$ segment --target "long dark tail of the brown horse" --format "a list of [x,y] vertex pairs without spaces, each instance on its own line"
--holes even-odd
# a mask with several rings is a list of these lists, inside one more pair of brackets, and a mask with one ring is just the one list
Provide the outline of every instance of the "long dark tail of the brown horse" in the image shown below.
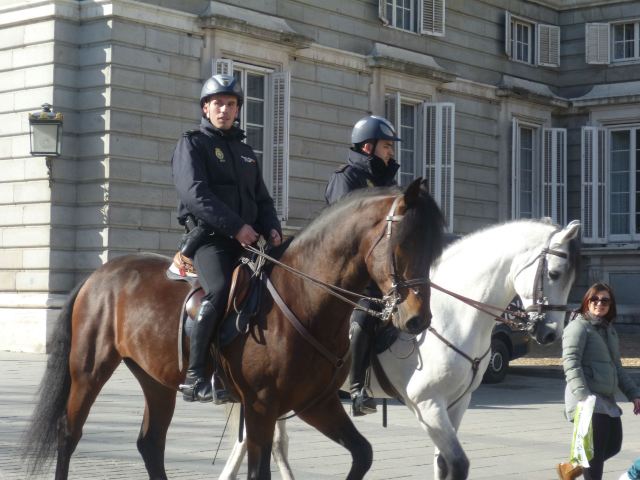
[[27,462],[29,477],[41,472],[53,460],[57,450],[58,422],[65,414],[71,386],[71,314],[83,284],[71,292],[60,311],[51,338],[47,368],[38,388],[40,398],[22,439],[22,458]]

